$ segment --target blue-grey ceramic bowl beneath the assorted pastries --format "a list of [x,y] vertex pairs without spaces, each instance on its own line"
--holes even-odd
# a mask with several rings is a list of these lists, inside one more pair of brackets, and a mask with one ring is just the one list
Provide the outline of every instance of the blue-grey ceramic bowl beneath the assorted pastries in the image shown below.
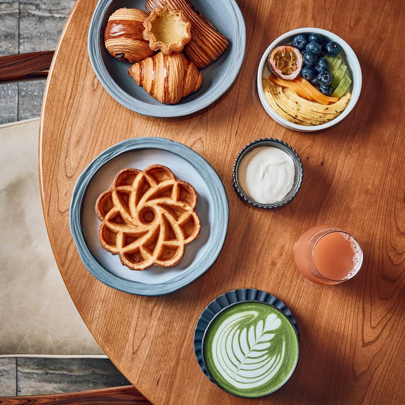
[[140,114],[174,117],[203,109],[232,85],[245,55],[246,27],[235,0],[192,0],[191,2],[226,36],[229,46],[221,57],[201,70],[203,86],[175,105],[161,104],[128,75],[130,64],[115,60],[104,47],[108,17],[120,7],[145,10],[145,0],[100,0],[94,11],[88,36],[90,61],[100,83],[120,104]]

